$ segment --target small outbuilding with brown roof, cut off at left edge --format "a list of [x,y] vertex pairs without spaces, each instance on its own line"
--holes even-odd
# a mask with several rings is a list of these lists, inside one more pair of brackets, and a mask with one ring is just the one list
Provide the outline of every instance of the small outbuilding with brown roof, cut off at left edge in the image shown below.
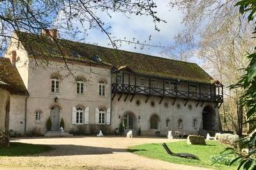
[[[19,72],[11,65],[8,58],[0,58],[0,128],[9,130],[9,121],[24,115],[19,115],[20,110],[25,110],[25,99],[28,92]],[[12,102],[10,102],[10,100]],[[17,101],[21,101],[20,108]],[[9,112],[13,112],[10,116]],[[19,124],[24,124],[24,120]]]

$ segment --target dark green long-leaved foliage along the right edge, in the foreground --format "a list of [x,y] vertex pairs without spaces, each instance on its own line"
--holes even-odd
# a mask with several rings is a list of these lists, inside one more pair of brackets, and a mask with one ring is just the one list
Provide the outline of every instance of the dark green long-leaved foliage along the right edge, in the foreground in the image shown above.
[[[241,0],[236,3],[236,6],[240,7],[240,12],[242,15],[248,17],[248,22],[255,22],[255,14],[256,14],[256,1],[248,1]],[[255,27],[256,31],[256,27]],[[255,33],[254,31],[254,33]],[[242,87],[245,92],[241,96],[241,104],[248,108],[247,117],[248,121],[252,128],[255,129],[255,121],[256,121],[256,53],[248,54],[248,59],[250,60],[249,65],[246,67],[246,74],[241,76],[238,83],[232,85],[232,88]],[[235,162],[240,162],[238,169],[255,169],[256,168],[256,131],[252,133],[249,137],[244,137],[241,139],[241,148],[248,148],[248,154],[241,153],[240,150],[235,148],[227,148],[222,155],[222,158],[225,158],[227,155],[238,155],[230,164],[234,164]],[[240,149],[241,149],[240,148]]]

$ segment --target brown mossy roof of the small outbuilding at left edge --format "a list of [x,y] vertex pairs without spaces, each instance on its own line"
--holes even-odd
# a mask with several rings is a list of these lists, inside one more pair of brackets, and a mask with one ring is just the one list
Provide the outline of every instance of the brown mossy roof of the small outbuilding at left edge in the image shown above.
[[0,88],[8,90],[12,94],[28,95],[19,72],[10,63],[9,58],[0,57]]

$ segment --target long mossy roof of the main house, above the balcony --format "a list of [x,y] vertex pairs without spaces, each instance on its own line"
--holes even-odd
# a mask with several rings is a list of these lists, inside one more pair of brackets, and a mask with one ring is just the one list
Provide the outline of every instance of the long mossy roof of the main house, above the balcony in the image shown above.
[[[29,56],[33,57],[61,58],[64,56],[68,59],[97,63],[98,65],[112,65],[116,69],[126,66],[137,74],[198,83],[213,83],[214,81],[209,74],[195,63],[114,50],[63,39],[57,39],[57,42],[59,42],[59,45],[57,45],[45,36],[23,32],[17,32],[16,34]],[[94,56],[98,56],[101,62],[93,60]]]

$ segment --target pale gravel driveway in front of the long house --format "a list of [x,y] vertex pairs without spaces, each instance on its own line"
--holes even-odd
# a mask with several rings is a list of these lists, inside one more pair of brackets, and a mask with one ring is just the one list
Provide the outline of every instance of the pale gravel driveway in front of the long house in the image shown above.
[[202,169],[128,153],[128,146],[174,142],[153,137],[55,137],[13,139],[30,144],[49,144],[47,153],[24,157],[3,157],[1,169]]

